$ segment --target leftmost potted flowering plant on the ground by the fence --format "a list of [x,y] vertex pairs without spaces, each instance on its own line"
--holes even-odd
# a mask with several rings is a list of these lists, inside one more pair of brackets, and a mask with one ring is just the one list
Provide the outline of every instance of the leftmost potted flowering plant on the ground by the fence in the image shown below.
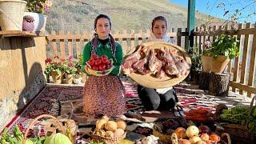
[[60,84],[63,82],[63,59],[58,56],[46,58],[45,74],[53,78],[54,83]]

